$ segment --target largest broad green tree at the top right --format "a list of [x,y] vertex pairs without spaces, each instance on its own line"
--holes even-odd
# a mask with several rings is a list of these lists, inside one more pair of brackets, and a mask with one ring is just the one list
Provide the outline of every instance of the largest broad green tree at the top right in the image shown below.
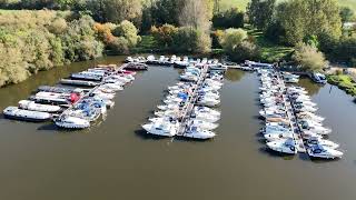
[[335,0],[290,0],[277,7],[276,19],[285,36],[285,43],[297,44],[306,37],[328,33],[342,36],[342,20]]

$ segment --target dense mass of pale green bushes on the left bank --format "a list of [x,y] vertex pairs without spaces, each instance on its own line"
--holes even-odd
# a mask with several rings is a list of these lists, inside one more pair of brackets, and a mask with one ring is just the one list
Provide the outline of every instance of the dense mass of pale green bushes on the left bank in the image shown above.
[[66,21],[67,12],[0,12],[0,87],[26,80],[31,73],[63,62],[101,56],[93,20]]

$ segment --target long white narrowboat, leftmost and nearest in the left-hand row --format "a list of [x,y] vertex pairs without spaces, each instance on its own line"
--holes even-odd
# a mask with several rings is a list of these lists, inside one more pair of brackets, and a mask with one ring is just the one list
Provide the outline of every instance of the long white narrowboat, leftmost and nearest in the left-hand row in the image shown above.
[[48,112],[22,110],[17,107],[8,107],[3,110],[3,116],[9,119],[41,122],[52,118]]

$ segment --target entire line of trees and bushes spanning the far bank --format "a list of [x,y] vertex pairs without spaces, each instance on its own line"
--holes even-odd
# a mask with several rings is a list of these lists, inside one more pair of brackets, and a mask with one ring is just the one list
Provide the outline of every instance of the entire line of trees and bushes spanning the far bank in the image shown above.
[[[261,58],[246,23],[276,46],[293,47],[289,59],[319,70],[326,59],[356,63],[356,33],[344,22],[350,9],[335,0],[251,0],[246,13],[216,11],[214,0],[0,0],[0,87],[66,62],[106,51],[129,53],[142,34],[171,52],[222,49],[233,61]],[[11,10],[13,9],[13,10]],[[37,9],[39,11],[18,11]],[[44,9],[44,10],[43,10]],[[57,10],[57,11],[50,11]]]

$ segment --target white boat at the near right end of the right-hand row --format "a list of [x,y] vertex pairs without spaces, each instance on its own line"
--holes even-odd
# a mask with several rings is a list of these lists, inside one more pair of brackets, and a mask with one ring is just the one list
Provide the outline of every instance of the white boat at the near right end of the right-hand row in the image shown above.
[[332,148],[327,148],[320,144],[316,144],[310,148],[307,149],[309,157],[313,158],[323,158],[323,159],[335,159],[335,158],[342,158],[343,157],[343,152],[332,149]]

